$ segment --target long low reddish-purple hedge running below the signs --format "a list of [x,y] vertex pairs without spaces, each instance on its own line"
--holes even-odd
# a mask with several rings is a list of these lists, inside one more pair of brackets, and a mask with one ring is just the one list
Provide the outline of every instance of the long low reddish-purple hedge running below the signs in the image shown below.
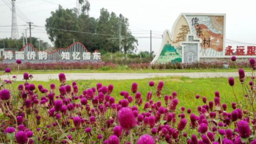
[[[249,68],[247,62],[193,62],[193,63],[128,63],[116,64],[112,62],[52,62],[52,63],[20,63],[20,70],[110,70],[110,69],[223,69],[223,64],[229,64],[230,68]],[[120,67],[118,67],[120,66]],[[0,63],[0,71],[5,68],[16,70],[18,67],[13,63]]]

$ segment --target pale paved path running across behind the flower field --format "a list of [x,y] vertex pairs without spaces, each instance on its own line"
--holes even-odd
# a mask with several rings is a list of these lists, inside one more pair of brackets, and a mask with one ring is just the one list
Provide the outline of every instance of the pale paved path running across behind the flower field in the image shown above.
[[[246,73],[251,75],[251,73]],[[33,81],[49,81],[58,79],[58,74],[33,74]],[[130,80],[165,76],[184,76],[190,78],[230,77],[238,76],[238,72],[190,72],[190,73],[67,73],[70,80]],[[7,75],[1,76],[2,80],[8,79]],[[17,81],[22,81],[23,75],[18,75]]]

